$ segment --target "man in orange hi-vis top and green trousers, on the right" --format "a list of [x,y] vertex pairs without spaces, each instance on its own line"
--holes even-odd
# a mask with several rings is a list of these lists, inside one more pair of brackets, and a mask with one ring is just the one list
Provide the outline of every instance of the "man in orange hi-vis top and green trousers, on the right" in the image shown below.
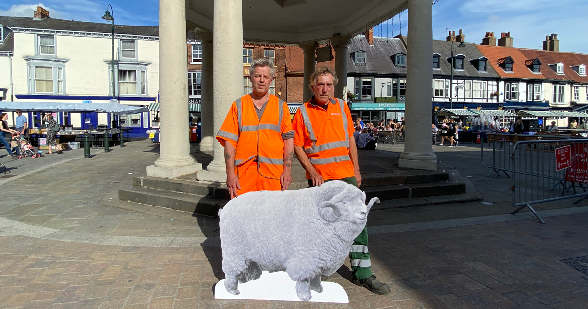
[[[308,184],[314,187],[325,181],[340,180],[359,187],[362,177],[351,112],[345,101],[330,97],[337,75],[333,69],[321,67],[309,79],[307,87],[314,95],[298,109],[292,121],[296,131],[294,151],[306,170]],[[326,124],[336,125],[326,129]],[[349,258],[353,284],[376,294],[390,293],[390,288],[372,273],[365,228],[353,241]]]

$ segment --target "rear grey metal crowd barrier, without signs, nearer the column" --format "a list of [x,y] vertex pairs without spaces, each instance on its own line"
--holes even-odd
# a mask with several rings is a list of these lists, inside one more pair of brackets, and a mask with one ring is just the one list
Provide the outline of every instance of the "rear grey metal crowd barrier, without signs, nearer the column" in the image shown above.
[[502,134],[502,133],[490,133],[487,134],[487,142],[490,145],[492,142],[492,157],[485,161],[484,159],[484,143],[481,145],[480,161],[483,167],[491,168],[490,172],[486,175],[489,177],[492,172],[495,172],[495,178],[500,176],[500,172],[503,172],[506,177],[510,177],[507,172],[512,171],[511,157],[513,151],[513,144],[518,141],[526,140],[553,140],[553,139],[570,139],[570,137],[560,137],[557,135],[517,135],[517,134]]

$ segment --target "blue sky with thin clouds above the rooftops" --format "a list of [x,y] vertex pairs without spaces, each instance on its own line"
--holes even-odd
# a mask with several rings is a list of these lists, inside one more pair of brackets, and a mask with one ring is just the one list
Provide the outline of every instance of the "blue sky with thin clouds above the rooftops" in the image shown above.
[[[158,0],[111,1],[116,24],[158,25]],[[0,16],[32,16],[36,6],[53,18],[105,22],[101,17],[109,2],[98,0],[2,0]],[[576,12],[577,14],[573,14]],[[543,48],[546,35],[557,34],[560,51],[588,54],[586,0],[438,0],[433,5],[433,38],[445,39],[446,28],[463,29],[466,42],[479,44],[486,32],[509,32],[513,46]],[[402,24],[400,20],[402,19]],[[375,36],[407,34],[407,11],[374,28]]]

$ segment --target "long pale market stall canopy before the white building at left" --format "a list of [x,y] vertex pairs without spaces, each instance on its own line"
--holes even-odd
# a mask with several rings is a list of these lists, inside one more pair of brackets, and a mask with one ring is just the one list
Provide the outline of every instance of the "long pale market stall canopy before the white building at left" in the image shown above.
[[118,103],[63,103],[63,102],[12,102],[0,101],[0,111],[14,112],[108,112],[115,115],[146,112],[146,107]]

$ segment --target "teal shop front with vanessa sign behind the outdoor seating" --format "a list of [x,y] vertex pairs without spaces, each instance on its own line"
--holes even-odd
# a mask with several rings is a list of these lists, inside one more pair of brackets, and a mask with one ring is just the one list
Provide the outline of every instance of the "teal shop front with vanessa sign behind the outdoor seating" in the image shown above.
[[405,103],[352,103],[351,116],[353,121],[361,119],[363,123],[373,122],[377,125],[380,121],[393,119],[399,122],[404,117]]

